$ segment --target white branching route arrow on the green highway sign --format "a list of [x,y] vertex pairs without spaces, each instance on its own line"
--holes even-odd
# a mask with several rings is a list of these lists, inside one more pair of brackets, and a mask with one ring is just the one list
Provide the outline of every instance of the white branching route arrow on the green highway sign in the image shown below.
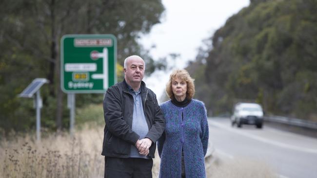
[[[96,55],[96,53],[94,53]],[[97,53],[102,58],[103,73],[95,73],[91,75],[93,79],[103,79],[103,89],[108,88],[108,48],[103,48],[102,53]]]

